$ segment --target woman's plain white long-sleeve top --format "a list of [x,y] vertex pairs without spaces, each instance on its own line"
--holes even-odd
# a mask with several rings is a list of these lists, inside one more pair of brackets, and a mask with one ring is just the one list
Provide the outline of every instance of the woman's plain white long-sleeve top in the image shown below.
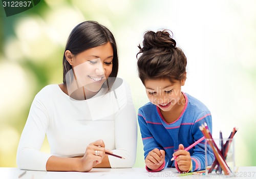
[[[120,83],[120,78],[119,78]],[[100,90],[87,100],[74,100],[58,84],[41,89],[35,96],[17,149],[17,166],[46,170],[51,155],[83,155],[86,147],[102,139],[105,148],[123,156],[109,156],[112,168],[133,167],[136,160],[137,116],[130,88],[122,81],[115,90]],[[47,135],[51,153],[40,151]]]

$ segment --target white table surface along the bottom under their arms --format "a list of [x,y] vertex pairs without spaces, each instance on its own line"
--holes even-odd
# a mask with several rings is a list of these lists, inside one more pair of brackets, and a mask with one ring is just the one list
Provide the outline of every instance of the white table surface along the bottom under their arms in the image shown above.
[[[1,179],[95,179],[95,178],[118,178],[118,179],[135,179],[135,178],[225,178],[224,176],[199,176],[187,175],[179,176],[175,168],[166,168],[160,172],[147,172],[144,168],[94,168],[90,172],[49,172],[49,171],[30,171],[27,170],[26,174],[18,177],[24,170],[18,168],[0,168]],[[255,167],[239,167],[236,177],[228,178],[256,178]]]

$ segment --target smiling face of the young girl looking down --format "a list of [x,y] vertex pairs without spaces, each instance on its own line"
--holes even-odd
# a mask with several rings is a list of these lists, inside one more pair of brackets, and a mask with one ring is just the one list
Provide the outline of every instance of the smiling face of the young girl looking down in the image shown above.
[[163,111],[169,111],[175,104],[180,104],[181,86],[184,84],[185,80],[170,82],[167,78],[144,81],[148,99]]

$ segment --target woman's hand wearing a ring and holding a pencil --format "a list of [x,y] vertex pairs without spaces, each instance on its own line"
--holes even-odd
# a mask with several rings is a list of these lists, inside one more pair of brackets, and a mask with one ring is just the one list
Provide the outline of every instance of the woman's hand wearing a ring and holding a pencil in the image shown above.
[[[102,140],[97,140],[89,144],[86,148],[86,152],[81,158],[81,171],[90,171],[95,165],[102,162],[105,156],[105,144]],[[106,150],[107,151],[107,150]]]

